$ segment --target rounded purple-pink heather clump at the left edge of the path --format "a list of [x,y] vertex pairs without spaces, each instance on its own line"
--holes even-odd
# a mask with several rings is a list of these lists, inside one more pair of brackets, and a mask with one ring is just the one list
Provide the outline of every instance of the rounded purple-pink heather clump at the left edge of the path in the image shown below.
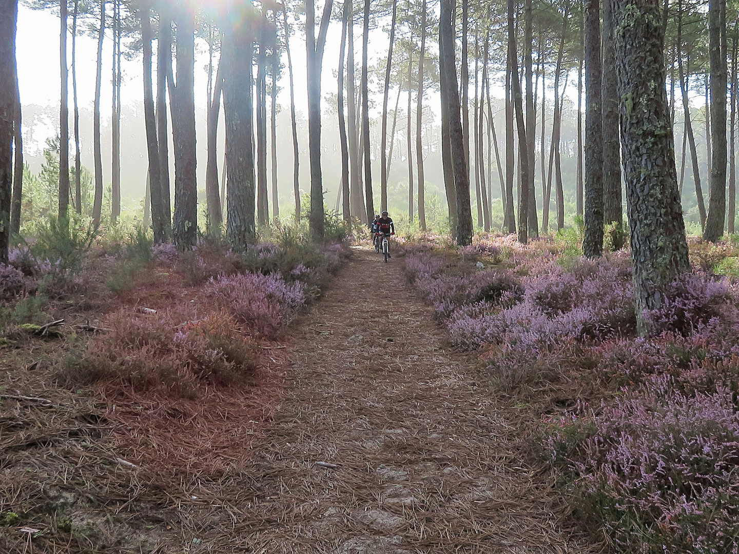
[[268,338],[276,337],[306,301],[299,281],[287,283],[282,276],[261,273],[211,278],[205,293],[239,322]]

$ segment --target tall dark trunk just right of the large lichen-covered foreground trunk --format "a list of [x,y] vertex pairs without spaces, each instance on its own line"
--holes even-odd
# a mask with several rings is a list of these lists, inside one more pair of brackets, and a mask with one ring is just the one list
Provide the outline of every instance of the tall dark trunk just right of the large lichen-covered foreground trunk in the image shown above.
[[[711,64],[711,194],[703,238],[717,242],[726,217],[726,0],[709,2]],[[707,104],[706,104],[707,108]]]

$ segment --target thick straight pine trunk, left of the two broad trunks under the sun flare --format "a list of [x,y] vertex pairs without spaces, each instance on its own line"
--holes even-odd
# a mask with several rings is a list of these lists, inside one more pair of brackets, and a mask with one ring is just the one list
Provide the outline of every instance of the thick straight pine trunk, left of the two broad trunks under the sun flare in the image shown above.
[[174,244],[181,249],[197,241],[195,151],[194,16],[186,8],[177,17],[177,84],[174,86]]

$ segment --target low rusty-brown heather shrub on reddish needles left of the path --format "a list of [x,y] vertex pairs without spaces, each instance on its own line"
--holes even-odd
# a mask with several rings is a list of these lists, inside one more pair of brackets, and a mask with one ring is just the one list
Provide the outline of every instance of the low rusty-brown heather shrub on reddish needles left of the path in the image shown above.
[[205,384],[248,380],[256,354],[233,316],[214,312],[201,321],[174,326],[177,317],[118,312],[106,321],[110,330],[105,335],[90,341],[84,352],[65,358],[61,380],[188,398],[197,397]]

